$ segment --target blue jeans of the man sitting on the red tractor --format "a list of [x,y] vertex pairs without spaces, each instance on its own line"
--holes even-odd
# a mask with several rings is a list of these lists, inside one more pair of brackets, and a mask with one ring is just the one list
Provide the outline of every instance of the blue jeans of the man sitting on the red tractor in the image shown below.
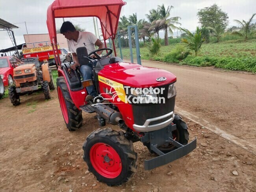
[[[95,66],[97,61],[93,61],[93,65]],[[83,74],[83,80],[92,79],[93,77],[93,65],[90,62],[88,65],[81,65],[80,66],[80,72]],[[94,89],[94,86],[91,85],[89,87],[86,87],[87,92],[89,95],[97,96],[96,91]]]

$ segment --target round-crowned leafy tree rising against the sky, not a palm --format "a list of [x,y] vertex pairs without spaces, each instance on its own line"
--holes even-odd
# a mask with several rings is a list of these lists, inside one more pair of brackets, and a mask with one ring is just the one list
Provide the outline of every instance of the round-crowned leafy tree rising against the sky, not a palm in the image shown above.
[[221,28],[226,28],[229,23],[228,14],[222,11],[221,7],[217,6],[217,4],[199,9],[197,17],[202,27],[215,28],[217,25],[220,25]]

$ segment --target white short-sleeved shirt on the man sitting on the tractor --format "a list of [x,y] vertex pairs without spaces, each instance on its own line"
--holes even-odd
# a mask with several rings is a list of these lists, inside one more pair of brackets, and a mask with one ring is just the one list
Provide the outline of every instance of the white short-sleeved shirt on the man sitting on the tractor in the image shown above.
[[95,51],[95,42],[97,41],[97,37],[91,32],[80,32],[77,42],[69,40],[69,49],[71,53],[76,53],[76,49],[78,47],[86,47],[88,54]]

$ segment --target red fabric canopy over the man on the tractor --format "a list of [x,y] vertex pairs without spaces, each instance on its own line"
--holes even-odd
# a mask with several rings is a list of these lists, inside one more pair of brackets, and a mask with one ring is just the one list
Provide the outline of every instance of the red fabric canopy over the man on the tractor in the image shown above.
[[[57,43],[55,18],[98,17],[103,39],[115,39],[123,0],[55,0],[47,9],[47,28],[53,44]],[[58,59],[59,60],[59,59]]]

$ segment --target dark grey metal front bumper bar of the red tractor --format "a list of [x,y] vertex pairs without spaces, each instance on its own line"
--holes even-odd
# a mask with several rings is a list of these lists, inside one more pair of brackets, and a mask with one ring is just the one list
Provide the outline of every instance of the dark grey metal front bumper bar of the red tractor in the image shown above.
[[174,151],[160,155],[159,157],[155,157],[154,159],[145,160],[144,168],[145,170],[152,170],[156,167],[168,164],[169,162],[175,161],[176,159],[179,159],[187,155],[188,153],[193,151],[195,148],[197,148],[197,138],[195,138],[189,144],[180,146],[180,148]]

